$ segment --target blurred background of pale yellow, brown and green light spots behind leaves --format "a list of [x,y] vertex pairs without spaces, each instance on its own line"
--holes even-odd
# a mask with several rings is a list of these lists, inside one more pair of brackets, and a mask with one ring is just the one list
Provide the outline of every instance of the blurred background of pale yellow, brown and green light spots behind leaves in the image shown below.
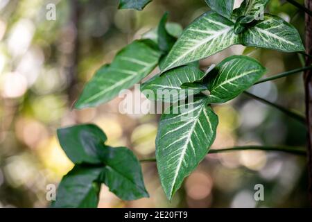
[[[56,5],[56,21],[46,20],[48,3]],[[118,98],[80,111],[72,104],[94,71],[157,26],[164,12],[170,13],[170,22],[185,27],[209,8],[204,0],[154,0],[141,12],[117,6],[117,0],[0,0],[0,207],[49,206],[46,185],[58,185],[73,167],[55,137],[61,126],[96,123],[108,144],[128,146],[140,159],[155,155],[158,115],[120,114]],[[302,11],[279,0],[271,0],[267,10],[296,26],[304,40]],[[246,51],[243,46],[232,46],[201,66],[244,51],[268,68],[268,76],[302,66],[297,53]],[[300,74],[250,92],[304,113]],[[212,148],[305,146],[301,123],[244,95],[214,109],[220,125]],[[98,207],[309,206],[305,157],[263,151],[207,155],[172,202],[162,191],[155,163],[142,163],[142,169],[150,198],[125,202],[103,186]],[[254,185],[259,183],[265,200],[256,202]]]

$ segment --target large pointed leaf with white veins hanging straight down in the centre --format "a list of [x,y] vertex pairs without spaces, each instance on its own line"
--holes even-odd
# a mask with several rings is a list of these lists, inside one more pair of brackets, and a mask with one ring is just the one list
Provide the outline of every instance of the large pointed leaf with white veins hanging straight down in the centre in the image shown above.
[[179,112],[162,114],[156,138],[156,159],[162,187],[171,199],[180,188],[185,177],[196,169],[207,155],[216,137],[218,117],[207,99],[199,98],[189,103],[189,108],[181,105]]

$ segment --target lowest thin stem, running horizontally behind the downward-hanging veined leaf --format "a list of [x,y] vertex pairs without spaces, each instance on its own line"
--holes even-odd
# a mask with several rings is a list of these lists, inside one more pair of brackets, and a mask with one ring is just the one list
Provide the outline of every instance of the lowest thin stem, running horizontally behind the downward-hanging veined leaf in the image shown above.
[[[210,150],[209,154],[227,153],[232,151],[280,151],[284,153],[292,153],[295,155],[306,155],[306,151],[302,147],[294,146],[234,146],[232,148],[220,148]],[[140,160],[140,162],[156,162],[156,158],[148,158]]]

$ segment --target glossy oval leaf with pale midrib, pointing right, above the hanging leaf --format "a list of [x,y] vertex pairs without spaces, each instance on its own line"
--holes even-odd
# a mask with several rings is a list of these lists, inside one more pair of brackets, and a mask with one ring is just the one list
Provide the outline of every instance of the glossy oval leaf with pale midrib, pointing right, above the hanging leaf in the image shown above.
[[248,56],[226,58],[209,74],[209,103],[225,103],[263,76],[266,68]]

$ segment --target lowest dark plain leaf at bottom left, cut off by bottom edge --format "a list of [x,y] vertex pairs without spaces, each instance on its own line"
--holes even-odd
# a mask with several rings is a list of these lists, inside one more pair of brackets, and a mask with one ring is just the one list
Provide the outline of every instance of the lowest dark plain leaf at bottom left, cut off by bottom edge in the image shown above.
[[94,208],[98,205],[100,185],[97,178],[102,167],[83,167],[76,165],[62,178],[58,186],[55,208]]

